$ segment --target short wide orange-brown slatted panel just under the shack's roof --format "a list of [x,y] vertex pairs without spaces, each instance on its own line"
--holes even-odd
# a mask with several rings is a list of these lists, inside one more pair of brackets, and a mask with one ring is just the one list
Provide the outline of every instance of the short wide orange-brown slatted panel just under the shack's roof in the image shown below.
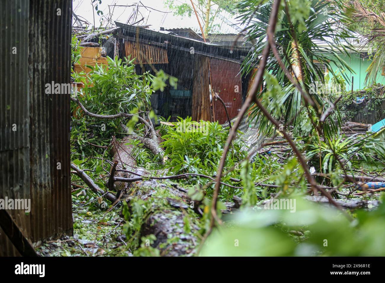
[[134,64],[168,64],[167,50],[156,46],[126,41],[126,57],[135,58]]

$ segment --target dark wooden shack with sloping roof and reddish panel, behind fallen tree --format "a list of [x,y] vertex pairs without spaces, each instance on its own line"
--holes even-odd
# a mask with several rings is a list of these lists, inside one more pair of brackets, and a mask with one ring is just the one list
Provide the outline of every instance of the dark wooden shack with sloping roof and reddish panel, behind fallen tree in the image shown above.
[[163,70],[176,77],[177,87],[157,90],[151,98],[157,115],[191,116],[193,120],[227,121],[223,104],[230,119],[242,107],[249,87],[250,75],[243,77],[241,62],[248,49],[205,43],[201,40],[177,36],[169,31],[154,31],[116,22],[114,37],[119,57],[135,58],[139,74]]

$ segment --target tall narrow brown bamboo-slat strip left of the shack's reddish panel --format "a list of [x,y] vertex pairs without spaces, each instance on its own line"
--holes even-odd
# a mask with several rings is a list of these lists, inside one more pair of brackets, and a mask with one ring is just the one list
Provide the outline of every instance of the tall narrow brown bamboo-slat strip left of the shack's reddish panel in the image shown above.
[[209,92],[209,58],[197,56],[194,66],[194,84],[192,88],[192,120],[211,121]]

